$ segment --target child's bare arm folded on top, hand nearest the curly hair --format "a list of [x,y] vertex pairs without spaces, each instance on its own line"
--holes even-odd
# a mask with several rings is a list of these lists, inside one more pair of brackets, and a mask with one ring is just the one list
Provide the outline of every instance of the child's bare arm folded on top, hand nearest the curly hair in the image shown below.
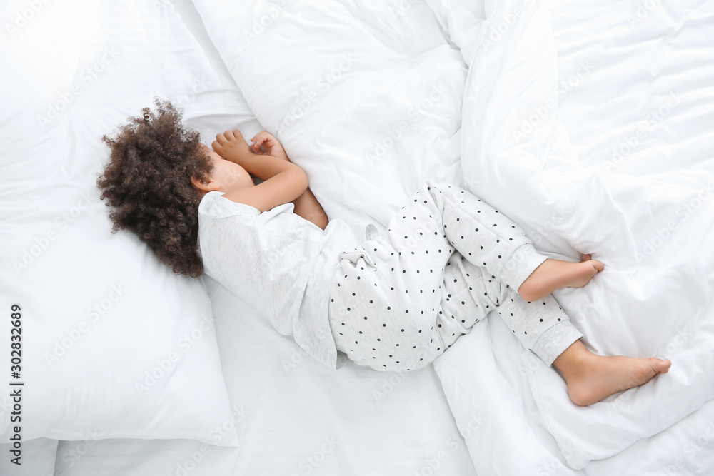
[[211,145],[218,155],[263,180],[256,186],[227,191],[223,196],[232,201],[263,212],[295,200],[308,188],[308,177],[303,169],[281,158],[253,153],[240,131],[220,133]]

